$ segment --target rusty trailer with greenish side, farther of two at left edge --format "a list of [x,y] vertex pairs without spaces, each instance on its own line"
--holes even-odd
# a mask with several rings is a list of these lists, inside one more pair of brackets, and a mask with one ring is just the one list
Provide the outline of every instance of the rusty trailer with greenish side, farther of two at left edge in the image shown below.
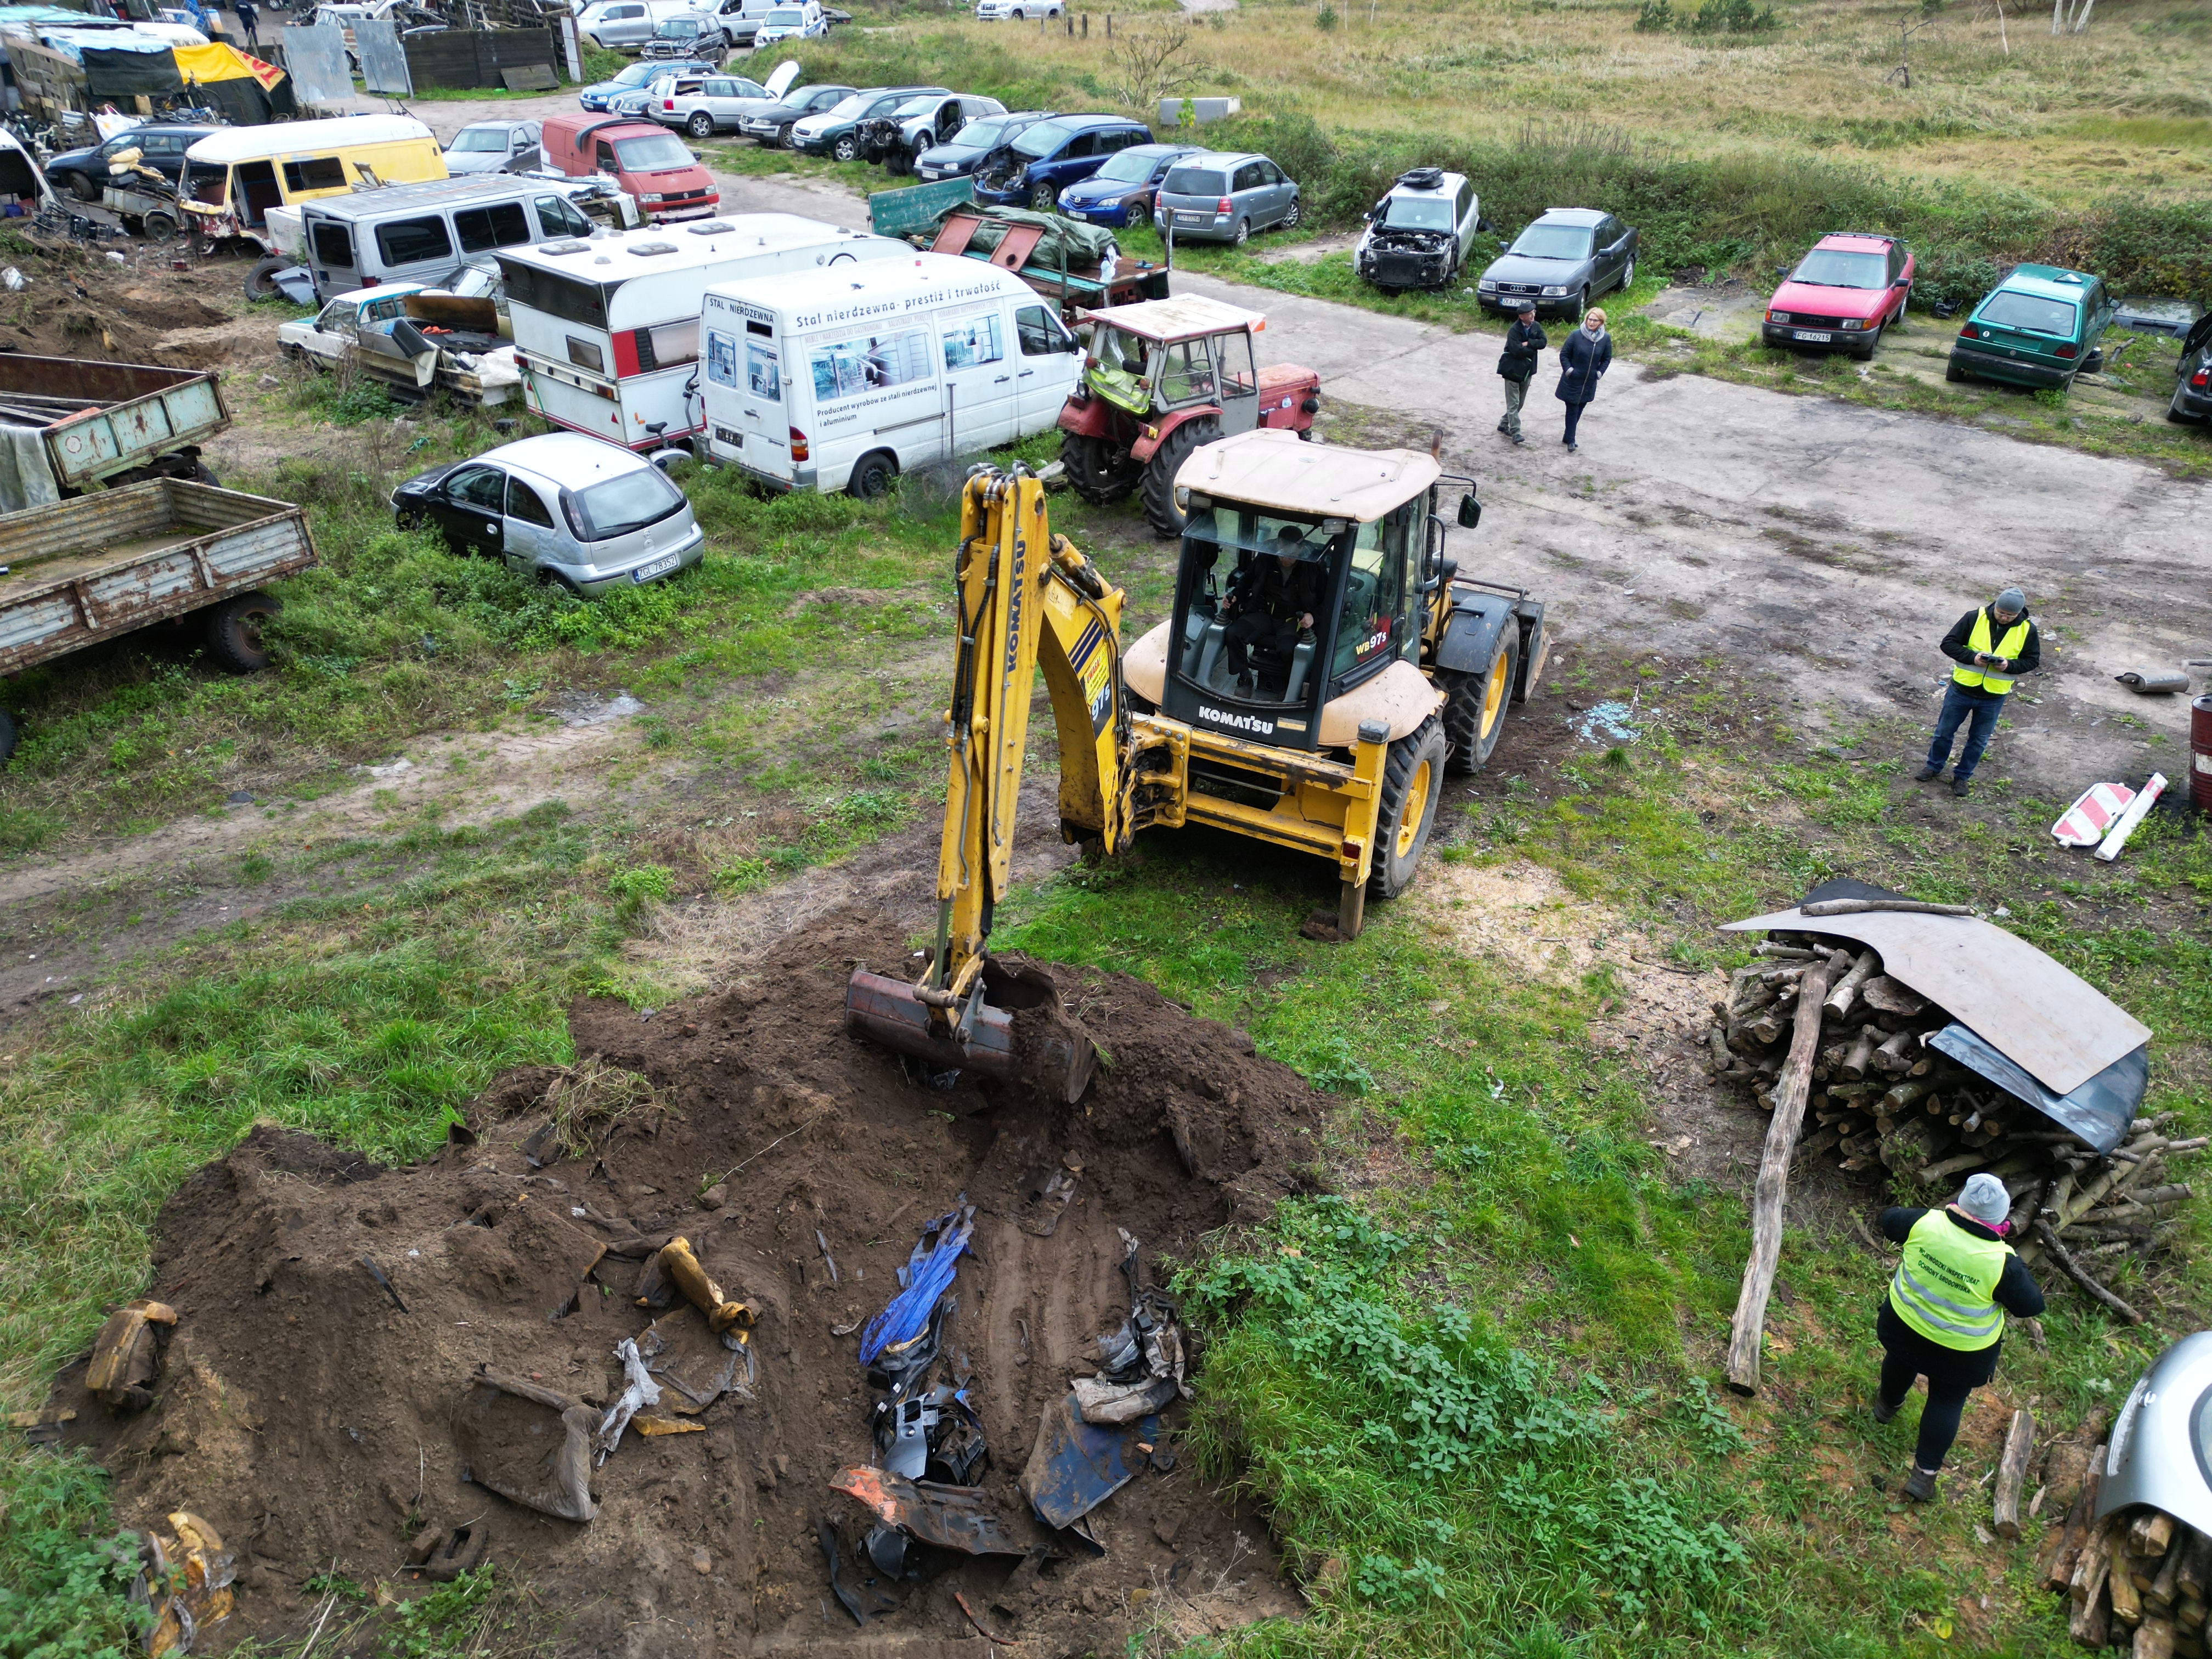
[[230,425],[230,407],[212,369],[0,352],[0,425],[35,429],[46,451],[49,489],[22,476],[20,451],[0,476],[0,511],[20,511],[102,482],[212,484],[199,445]]

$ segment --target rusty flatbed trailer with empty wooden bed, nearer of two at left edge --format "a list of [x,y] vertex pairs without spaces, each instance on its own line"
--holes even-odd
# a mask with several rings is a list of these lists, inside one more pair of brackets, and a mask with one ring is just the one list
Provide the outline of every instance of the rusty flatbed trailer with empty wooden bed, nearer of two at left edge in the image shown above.
[[[0,675],[155,622],[199,615],[208,655],[265,668],[265,582],[316,562],[292,502],[157,478],[0,515]],[[0,759],[15,723],[0,710]]]

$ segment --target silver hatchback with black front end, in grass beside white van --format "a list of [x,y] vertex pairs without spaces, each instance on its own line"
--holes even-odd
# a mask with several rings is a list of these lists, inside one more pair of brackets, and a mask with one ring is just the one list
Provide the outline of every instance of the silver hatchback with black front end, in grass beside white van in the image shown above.
[[489,553],[595,599],[690,568],[706,531],[644,456],[580,431],[487,449],[392,491],[398,526],[434,526],[456,553]]

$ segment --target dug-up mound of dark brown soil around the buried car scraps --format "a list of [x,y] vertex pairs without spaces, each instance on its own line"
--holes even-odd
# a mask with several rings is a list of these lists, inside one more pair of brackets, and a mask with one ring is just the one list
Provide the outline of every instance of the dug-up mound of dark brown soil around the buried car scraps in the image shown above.
[[[885,918],[832,916],[728,989],[650,1018],[577,1004],[577,1071],[597,1055],[653,1084],[584,1157],[542,1137],[551,1161],[526,1161],[549,1086],[575,1086],[529,1068],[478,1102],[473,1144],[429,1164],[378,1170],[263,1126],[168,1201],[150,1294],[179,1323],[157,1402],[111,1413],[84,1391],[84,1360],[53,1402],[75,1407],[69,1438],[113,1473],[119,1520],[188,1509],[237,1551],[239,1606],[215,1648],[296,1637],[310,1575],[336,1564],[396,1579],[414,1528],[469,1522],[553,1615],[555,1641],[588,1655],[933,1655],[951,1641],[980,1655],[956,1590],[1024,1655],[1119,1648],[1139,1624],[1190,1637],[1298,1613],[1265,1524],[1223,1502],[1181,1447],[1186,1405],[1164,1413],[1155,1467],[1093,1511],[1104,1555],[1044,1528],[1015,1480],[1040,1413],[1097,1369],[1095,1338],[1128,1312],[1117,1228],[1141,1241],[1157,1283],[1166,1259],[1261,1219],[1312,1157],[1318,1097],[1150,987],[1066,969],[1053,969],[1066,1006],[1110,1053],[1082,1104],[971,1075],[931,1088],[845,1033],[856,964],[905,967]],[[1075,1166],[1057,1228],[1018,1225],[1035,1223],[1046,1177]],[[732,1168],[723,1192],[706,1192]],[[832,1597],[816,1542],[821,1517],[847,1546],[867,1526],[830,1486],[876,1462],[854,1327],[898,1294],[922,1225],[960,1194],[978,1221],[938,1376],[971,1376],[987,1506],[1022,1548],[1055,1553],[1042,1571],[931,1555],[920,1584],[863,1588],[898,1599],[863,1630]],[[754,1398],[723,1394],[695,1418],[703,1433],[633,1429],[591,1475],[588,1524],[467,1482],[453,1413],[471,1374],[489,1365],[580,1396],[595,1420],[622,1389],[615,1345],[655,1318],[635,1301],[641,1259],[672,1232],[759,1312]],[[604,1243],[630,1254],[599,1256],[580,1283]],[[845,1582],[858,1577],[847,1555]]]

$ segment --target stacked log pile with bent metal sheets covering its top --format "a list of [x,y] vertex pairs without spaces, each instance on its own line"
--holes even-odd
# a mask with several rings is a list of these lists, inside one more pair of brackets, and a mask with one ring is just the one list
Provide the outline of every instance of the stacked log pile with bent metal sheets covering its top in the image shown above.
[[[1871,918],[1896,933],[1893,949],[1907,951],[1911,967],[1889,973],[1874,945],[1829,931],[1863,931],[1856,925]],[[2174,1113],[2135,1119],[2148,1079],[2137,1033],[2148,1037],[2148,1031],[2033,947],[1955,907],[1880,894],[1825,902],[1816,896],[1801,911],[1739,927],[1785,920],[1796,925],[1772,927],[1752,947],[1759,960],[1736,969],[1728,998],[1712,1004],[1714,1073],[1745,1084],[1774,1110],[1805,1018],[1801,982],[1816,962],[1825,964],[1829,989],[1816,1004],[1820,1029],[1796,1157],[1832,1155],[1843,1170],[1887,1170],[1931,1192],[1955,1190],[1973,1172],[1995,1175],[2015,1199],[2011,1221],[2022,1256],[2048,1254],[2132,1323],[2135,1310],[2090,1270],[2106,1259],[2143,1256],[2166,1241],[2190,1197],[2174,1164],[2205,1146],[2205,1137],[2166,1133]],[[2011,975],[2000,962],[1973,960],[2004,949],[2022,958]],[[1964,956],[1964,971],[1947,956]],[[2070,984],[2059,984],[2059,975]],[[2035,1004],[2044,1026],[2079,1022],[2112,1031],[2095,1060],[2073,1060],[2073,1073],[2057,1079],[2068,1091],[2059,1093],[2008,1053],[2011,1006],[1975,1009],[1969,1020],[1927,993],[1971,984],[1989,1000],[1989,980],[2008,980],[2013,1002]],[[2081,1071],[2090,1075],[2077,1082]]]

